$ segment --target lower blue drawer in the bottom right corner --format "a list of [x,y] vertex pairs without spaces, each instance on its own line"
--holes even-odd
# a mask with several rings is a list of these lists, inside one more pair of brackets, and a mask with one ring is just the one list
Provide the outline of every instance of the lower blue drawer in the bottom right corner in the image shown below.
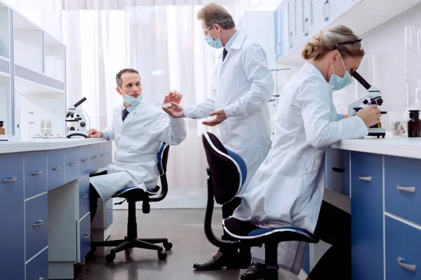
[[386,216],[387,280],[420,279],[420,248],[421,230]]

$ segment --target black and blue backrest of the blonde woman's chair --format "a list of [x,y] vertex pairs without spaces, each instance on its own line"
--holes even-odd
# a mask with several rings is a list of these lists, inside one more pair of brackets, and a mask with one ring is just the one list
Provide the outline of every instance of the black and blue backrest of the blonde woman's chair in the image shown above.
[[246,163],[239,155],[227,150],[214,134],[203,133],[202,141],[210,169],[215,201],[218,204],[230,202],[241,191],[246,181]]

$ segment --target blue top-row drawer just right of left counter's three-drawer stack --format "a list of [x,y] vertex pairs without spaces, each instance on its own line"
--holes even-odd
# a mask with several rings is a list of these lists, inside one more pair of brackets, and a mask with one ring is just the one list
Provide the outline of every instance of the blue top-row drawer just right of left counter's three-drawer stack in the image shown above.
[[65,153],[62,150],[48,151],[48,190],[65,184]]

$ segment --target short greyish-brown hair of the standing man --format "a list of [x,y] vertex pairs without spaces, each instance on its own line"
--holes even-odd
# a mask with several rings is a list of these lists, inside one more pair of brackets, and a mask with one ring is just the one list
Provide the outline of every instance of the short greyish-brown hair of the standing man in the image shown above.
[[211,27],[215,23],[220,25],[222,29],[232,29],[235,27],[232,15],[217,3],[208,3],[206,6],[203,6],[197,13],[197,19],[203,20],[206,28]]

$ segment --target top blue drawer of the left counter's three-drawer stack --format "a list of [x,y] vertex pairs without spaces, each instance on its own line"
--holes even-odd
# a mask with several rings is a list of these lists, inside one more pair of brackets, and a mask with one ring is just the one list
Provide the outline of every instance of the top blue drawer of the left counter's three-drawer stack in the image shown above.
[[46,152],[25,153],[25,198],[47,191]]

